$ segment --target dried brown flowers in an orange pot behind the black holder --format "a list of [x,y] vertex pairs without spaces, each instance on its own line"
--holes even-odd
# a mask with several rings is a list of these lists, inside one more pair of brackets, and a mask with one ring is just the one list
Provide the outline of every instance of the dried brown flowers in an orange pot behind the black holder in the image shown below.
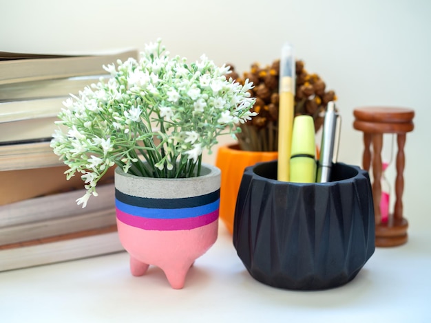
[[[220,219],[231,233],[244,168],[277,159],[279,72],[280,60],[275,60],[264,68],[254,63],[243,77],[232,67],[227,76],[242,85],[253,82],[255,87],[249,89],[251,97],[256,98],[252,111],[258,113],[251,122],[239,125],[242,131],[236,135],[238,144],[220,147],[215,162],[222,170]],[[295,115],[311,115],[318,131],[326,105],[336,100],[335,92],[327,91],[325,82],[317,74],[308,74],[302,60],[296,61],[295,74]]]

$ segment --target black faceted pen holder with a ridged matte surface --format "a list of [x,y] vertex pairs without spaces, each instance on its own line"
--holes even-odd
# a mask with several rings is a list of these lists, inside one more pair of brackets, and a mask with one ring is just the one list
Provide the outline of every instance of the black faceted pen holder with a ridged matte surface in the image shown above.
[[277,161],[244,170],[233,245],[251,276],[282,289],[330,289],[375,250],[368,172],[337,163],[328,183],[277,181]]

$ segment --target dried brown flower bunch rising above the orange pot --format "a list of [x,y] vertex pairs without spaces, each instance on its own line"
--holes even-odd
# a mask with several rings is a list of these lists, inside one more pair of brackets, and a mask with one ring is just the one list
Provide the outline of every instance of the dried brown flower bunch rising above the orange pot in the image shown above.
[[[233,66],[230,66],[234,71]],[[311,115],[315,121],[315,130],[318,131],[323,124],[322,113],[326,109],[326,104],[337,100],[337,97],[334,91],[326,91],[326,84],[319,75],[308,74],[304,61],[297,60],[295,69],[295,115]],[[277,150],[279,74],[280,59],[274,60],[271,65],[264,68],[259,63],[253,63],[250,71],[246,71],[242,78],[233,72],[229,74],[232,78],[232,75],[236,75],[237,78],[233,79],[242,84],[248,78],[255,85],[250,93],[256,98],[253,111],[259,114],[252,122],[240,125],[242,133],[238,134],[238,139],[243,150]]]

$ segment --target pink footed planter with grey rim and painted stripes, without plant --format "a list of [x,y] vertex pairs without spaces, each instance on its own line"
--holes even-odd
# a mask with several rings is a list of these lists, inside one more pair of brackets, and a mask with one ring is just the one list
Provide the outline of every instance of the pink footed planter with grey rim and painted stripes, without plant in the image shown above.
[[194,260],[217,239],[220,170],[204,164],[200,177],[156,179],[117,168],[115,186],[118,234],[132,275],[155,265],[181,289]]

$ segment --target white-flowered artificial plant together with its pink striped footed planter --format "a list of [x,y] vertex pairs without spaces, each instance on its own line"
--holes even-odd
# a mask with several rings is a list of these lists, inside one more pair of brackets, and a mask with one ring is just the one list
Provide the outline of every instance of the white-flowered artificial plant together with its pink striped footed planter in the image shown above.
[[51,146],[97,195],[107,169],[115,173],[117,225],[134,276],[160,267],[180,289],[193,261],[218,230],[220,170],[202,164],[202,151],[250,120],[252,83],[227,79],[229,67],[206,56],[196,63],[169,53],[160,40],[140,59],[105,69],[112,78],[65,102]]

